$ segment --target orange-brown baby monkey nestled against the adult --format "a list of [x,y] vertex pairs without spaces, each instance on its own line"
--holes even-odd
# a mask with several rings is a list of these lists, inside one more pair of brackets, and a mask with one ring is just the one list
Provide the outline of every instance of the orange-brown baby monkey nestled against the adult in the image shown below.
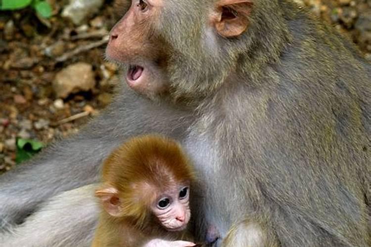
[[194,172],[180,144],[157,135],[130,139],[102,168],[102,210],[93,247],[187,247]]

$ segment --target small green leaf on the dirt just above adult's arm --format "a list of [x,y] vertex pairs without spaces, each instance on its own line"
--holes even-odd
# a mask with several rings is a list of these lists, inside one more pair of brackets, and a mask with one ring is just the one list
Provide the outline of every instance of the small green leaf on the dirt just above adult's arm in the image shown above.
[[39,153],[43,147],[44,144],[42,142],[18,138],[15,162],[17,164],[20,164],[24,161],[29,160],[32,156]]

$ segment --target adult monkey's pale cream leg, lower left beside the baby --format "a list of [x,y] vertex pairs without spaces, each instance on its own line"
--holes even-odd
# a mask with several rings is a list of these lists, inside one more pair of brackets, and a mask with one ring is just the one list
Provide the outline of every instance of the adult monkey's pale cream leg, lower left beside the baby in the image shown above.
[[[63,192],[0,237],[6,247],[89,247],[99,208],[94,185]],[[75,233],[75,234],[73,234]]]

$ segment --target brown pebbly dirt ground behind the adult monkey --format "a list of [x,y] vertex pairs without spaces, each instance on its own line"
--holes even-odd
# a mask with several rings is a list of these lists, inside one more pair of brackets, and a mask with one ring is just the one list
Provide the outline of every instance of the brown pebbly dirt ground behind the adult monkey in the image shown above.
[[[371,61],[371,0],[296,0],[348,36]],[[32,9],[0,12],[0,173],[14,167],[17,137],[48,143],[76,132],[109,104],[118,68],[104,60],[117,19],[106,0],[84,24],[62,18],[66,0],[48,0],[50,19]],[[53,89],[58,73],[84,62],[93,86],[67,97]]]

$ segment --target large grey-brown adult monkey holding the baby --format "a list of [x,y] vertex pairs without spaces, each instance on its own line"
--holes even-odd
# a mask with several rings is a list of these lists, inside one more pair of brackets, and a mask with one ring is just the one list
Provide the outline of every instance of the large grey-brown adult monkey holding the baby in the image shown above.
[[[332,28],[290,0],[133,0],[107,54],[149,97],[122,89],[80,134],[5,174],[4,228],[95,182],[124,139],[159,132],[187,146],[204,178],[201,236],[210,225],[226,246],[371,244],[371,66]],[[64,194],[40,207],[66,211]],[[60,216],[74,225],[55,245],[89,239],[76,220],[86,210]],[[19,227],[23,240],[45,227],[42,213]]]

